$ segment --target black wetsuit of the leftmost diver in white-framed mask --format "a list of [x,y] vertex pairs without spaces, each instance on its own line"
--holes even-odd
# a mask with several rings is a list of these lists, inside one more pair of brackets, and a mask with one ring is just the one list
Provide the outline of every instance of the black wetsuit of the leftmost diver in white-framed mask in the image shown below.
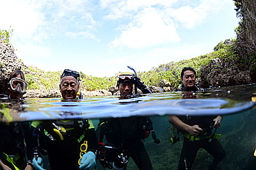
[[[20,98],[20,101],[15,101],[8,106],[1,105],[0,118],[8,119],[8,117],[11,117],[9,115],[10,111],[15,111],[15,113],[16,111],[17,113],[24,111],[21,106],[21,104],[24,104],[22,99]],[[9,96],[1,94],[0,100],[11,99]],[[36,138],[32,135],[30,125],[31,122],[0,123],[0,159],[11,169],[15,169],[15,166],[19,169],[25,169],[27,161],[33,160],[33,148],[36,146]]]

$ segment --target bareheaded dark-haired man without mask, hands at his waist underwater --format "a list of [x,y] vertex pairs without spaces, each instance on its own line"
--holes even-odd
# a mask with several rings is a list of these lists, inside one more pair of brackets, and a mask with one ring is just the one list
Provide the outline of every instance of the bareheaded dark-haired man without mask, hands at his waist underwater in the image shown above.
[[[179,91],[184,92],[184,99],[191,98],[193,92],[200,90],[195,85],[196,72],[191,67],[184,67],[180,74],[182,86]],[[174,125],[184,137],[182,152],[180,154],[179,169],[191,169],[195,160],[196,153],[200,148],[204,148],[214,157],[209,169],[218,169],[218,163],[225,158],[225,150],[223,149],[219,135],[215,134],[216,129],[220,127],[222,115],[218,116],[179,116],[170,115],[169,122]],[[215,128],[214,132],[212,130]]]

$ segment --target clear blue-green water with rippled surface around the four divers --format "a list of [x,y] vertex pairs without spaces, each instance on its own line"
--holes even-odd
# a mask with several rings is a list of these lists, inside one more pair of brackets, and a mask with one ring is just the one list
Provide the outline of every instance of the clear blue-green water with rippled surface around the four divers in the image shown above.
[[[158,145],[151,137],[145,140],[152,165],[154,169],[177,169],[182,139],[174,145],[170,142],[172,125],[168,115],[225,115],[218,133],[222,134],[220,142],[227,157],[220,163],[220,169],[256,169],[256,157],[253,157],[256,107],[252,102],[255,92],[256,85],[251,84],[197,94],[166,92],[122,100],[118,96],[104,96],[85,97],[77,102],[61,99],[26,99],[24,103],[1,101],[0,121],[92,118],[97,127],[99,118],[150,115],[157,138],[161,140]],[[6,108],[8,113],[3,111]],[[199,150],[193,169],[207,169],[211,161],[209,153]],[[101,169],[100,165],[97,169]],[[127,169],[137,169],[132,159]]]

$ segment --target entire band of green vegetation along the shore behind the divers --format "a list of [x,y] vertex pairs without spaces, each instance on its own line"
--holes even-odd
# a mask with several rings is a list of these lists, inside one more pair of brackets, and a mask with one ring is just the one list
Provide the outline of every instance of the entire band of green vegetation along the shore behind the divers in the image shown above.
[[[179,62],[170,62],[168,64],[161,64],[157,68],[152,68],[150,71],[138,72],[138,76],[141,78],[145,85],[159,86],[159,81],[165,79],[169,81],[172,87],[179,87],[180,72],[183,67],[193,67],[200,78],[200,67],[207,66],[211,59],[219,58],[226,62],[243,63],[244,60],[239,59],[236,51],[236,39],[227,39],[224,42],[221,41],[214,47],[214,52],[200,55],[189,60],[181,60]],[[252,61],[253,62],[253,61]],[[236,64],[239,67],[239,64]],[[42,71],[36,67],[28,67],[25,71],[26,81],[28,81],[28,89],[59,89],[60,75],[62,71]],[[95,77],[86,75],[82,72],[82,90],[108,90],[109,87],[115,86],[118,80],[118,74],[132,74],[128,72],[119,72],[112,77]]]

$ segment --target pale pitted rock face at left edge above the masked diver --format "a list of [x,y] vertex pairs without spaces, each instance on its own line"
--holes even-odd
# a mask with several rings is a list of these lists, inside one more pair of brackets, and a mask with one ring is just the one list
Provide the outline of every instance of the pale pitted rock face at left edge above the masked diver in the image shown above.
[[8,94],[7,83],[10,73],[24,67],[26,66],[14,53],[13,46],[0,41],[0,94]]

